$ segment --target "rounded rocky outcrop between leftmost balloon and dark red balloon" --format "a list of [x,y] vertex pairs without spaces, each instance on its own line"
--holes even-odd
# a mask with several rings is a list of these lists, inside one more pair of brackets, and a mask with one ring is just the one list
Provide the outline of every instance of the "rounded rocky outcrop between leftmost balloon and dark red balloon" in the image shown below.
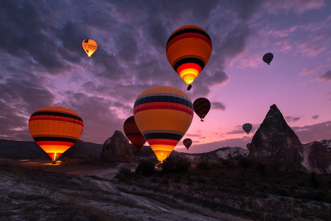
[[129,140],[120,131],[108,138],[103,145],[100,161],[102,162],[123,162],[132,163],[133,153]]

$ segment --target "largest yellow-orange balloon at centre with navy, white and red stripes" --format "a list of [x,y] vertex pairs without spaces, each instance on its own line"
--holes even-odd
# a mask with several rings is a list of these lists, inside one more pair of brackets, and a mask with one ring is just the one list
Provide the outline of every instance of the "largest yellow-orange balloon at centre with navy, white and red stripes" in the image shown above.
[[193,104],[175,87],[156,86],[139,94],[133,114],[140,132],[162,162],[190,127]]

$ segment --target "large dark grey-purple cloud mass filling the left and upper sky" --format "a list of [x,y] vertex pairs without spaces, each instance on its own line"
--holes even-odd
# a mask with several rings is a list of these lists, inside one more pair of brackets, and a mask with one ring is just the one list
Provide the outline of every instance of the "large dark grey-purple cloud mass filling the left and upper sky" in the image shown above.
[[[0,49],[3,63],[8,61],[0,73],[0,97],[6,111],[0,117],[10,127],[0,134],[27,139],[30,114],[56,100],[82,114],[83,140],[101,143],[122,130],[122,118],[132,115],[138,94],[149,87],[171,85],[191,98],[207,96],[211,86],[229,81],[223,69],[244,51],[252,32],[246,22],[258,8],[258,1],[6,1],[0,8]],[[165,52],[169,35],[187,24],[206,29],[213,42],[191,91]],[[81,48],[87,38],[98,43],[92,58]],[[73,72],[77,82],[65,88],[60,80]]]

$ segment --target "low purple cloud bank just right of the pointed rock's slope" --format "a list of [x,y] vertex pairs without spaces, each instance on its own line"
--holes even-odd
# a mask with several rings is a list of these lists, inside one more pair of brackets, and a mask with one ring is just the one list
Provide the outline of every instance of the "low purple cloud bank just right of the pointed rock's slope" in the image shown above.
[[331,121],[304,127],[291,127],[302,143],[331,138]]

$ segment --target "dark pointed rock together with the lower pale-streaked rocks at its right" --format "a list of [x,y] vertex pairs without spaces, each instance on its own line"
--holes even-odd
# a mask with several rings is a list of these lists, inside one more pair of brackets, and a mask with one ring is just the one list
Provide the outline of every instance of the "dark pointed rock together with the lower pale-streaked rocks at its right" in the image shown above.
[[331,155],[321,142],[302,144],[273,104],[252,139],[250,157],[271,171],[331,173]]

